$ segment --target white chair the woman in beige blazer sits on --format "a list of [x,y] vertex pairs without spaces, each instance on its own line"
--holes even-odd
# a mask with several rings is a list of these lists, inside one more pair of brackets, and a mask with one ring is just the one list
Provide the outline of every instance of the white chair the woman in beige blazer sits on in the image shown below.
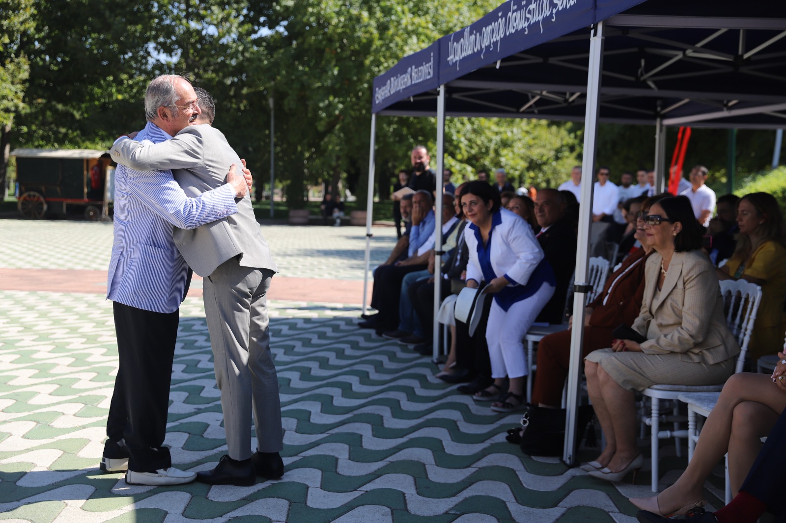
[[[745,280],[723,280],[721,283],[721,296],[726,313],[726,324],[740,345],[740,355],[736,360],[735,374],[741,372],[745,364],[747,344],[751,341],[751,332],[756,320],[756,311],[762,301],[762,289],[754,283]],[[709,305],[708,305],[709,306]],[[660,430],[660,400],[676,400],[687,393],[720,393],[723,385],[690,386],[690,385],[654,385],[642,391],[645,397],[651,399],[652,410],[649,417],[642,416],[641,421],[652,427],[650,441],[652,444],[652,492],[658,492],[659,480],[659,448],[658,441],[667,437],[674,437],[677,455],[681,455],[680,439],[688,439],[688,456],[693,455],[696,440],[696,414],[701,414],[706,409],[702,408],[704,400],[696,400],[694,406],[688,405],[689,430],[679,427],[678,405],[674,405],[674,430]],[[691,429],[692,427],[692,429]],[[693,431],[693,433],[691,432]]]

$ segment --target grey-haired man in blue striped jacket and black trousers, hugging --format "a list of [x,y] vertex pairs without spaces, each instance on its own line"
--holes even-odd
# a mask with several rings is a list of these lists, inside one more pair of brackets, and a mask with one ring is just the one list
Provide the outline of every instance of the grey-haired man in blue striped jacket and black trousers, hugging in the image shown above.
[[[191,84],[163,75],[145,93],[145,129],[138,141],[160,143],[200,114]],[[230,168],[230,166],[227,166]],[[115,174],[115,223],[107,298],[112,304],[119,369],[109,408],[101,469],[127,470],[132,485],[178,485],[195,473],[174,468],[163,446],[179,306],[190,278],[172,240],[172,226],[195,229],[237,213],[236,197],[251,176],[236,174],[197,198],[185,196],[170,170],[141,171],[119,165]]]

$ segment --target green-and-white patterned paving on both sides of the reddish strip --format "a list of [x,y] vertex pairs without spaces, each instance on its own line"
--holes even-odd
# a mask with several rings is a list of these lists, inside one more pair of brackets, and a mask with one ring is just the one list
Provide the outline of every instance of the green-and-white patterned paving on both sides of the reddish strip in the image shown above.
[[[0,221],[0,266],[31,266],[27,252],[42,268],[105,269],[93,259],[108,259],[104,225],[8,223]],[[343,251],[363,243],[362,235],[354,245],[342,240],[349,228],[281,229],[277,240],[292,239],[275,247],[282,266],[307,258],[310,244],[333,241]],[[18,243],[13,251],[7,232]],[[71,248],[96,238],[89,256]],[[347,259],[354,258],[321,254],[320,272],[297,270],[348,274]],[[635,521],[626,498],[648,495],[649,474],[637,485],[612,485],[558,459],[522,455],[504,439],[518,416],[454,393],[428,359],[359,329],[357,305],[272,301],[270,316],[285,477],[242,488],[132,487],[97,468],[118,364],[111,303],[100,294],[0,291],[0,520]],[[199,298],[181,308],[170,400],[173,462],[184,470],[215,466],[226,444]],[[667,484],[685,459],[674,448],[661,452]],[[715,477],[708,493],[718,496],[718,485]]]

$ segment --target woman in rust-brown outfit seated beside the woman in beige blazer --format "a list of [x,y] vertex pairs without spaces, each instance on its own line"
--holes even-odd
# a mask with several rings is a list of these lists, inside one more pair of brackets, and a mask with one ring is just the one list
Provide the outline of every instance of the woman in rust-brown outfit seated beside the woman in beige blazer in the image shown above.
[[[619,324],[630,327],[638,316],[644,295],[645,262],[652,253],[652,247],[644,241],[644,221],[641,218],[648,214],[652,203],[665,196],[668,195],[652,196],[642,203],[642,212],[637,216],[635,238],[644,247],[625,258],[620,268],[606,280],[603,292],[587,306],[582,360],[593,350],[610,346],[612,331]],[[547,335],[538,343],[538,371],[535,372],[532,390],[533,404],[547,408],[560,407],[570,356],[570,330]]]

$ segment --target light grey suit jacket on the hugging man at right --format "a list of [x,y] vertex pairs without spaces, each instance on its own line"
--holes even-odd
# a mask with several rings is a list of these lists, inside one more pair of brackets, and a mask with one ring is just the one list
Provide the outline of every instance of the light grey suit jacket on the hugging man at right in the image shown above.
[[[119,140],[112,146],[112,159],[137,170],[171,169],[187,196],[226,183],[230,165],[243,164],[223,133],[207,124],[187,126],[171,140],[141,144]],[[240,265],[277,271],[270,248],[254,217],[251,198],[237,201],[237,214],[196,229],[174,228],[174,244],[196,274],[210,276],[216,267],[235,256]]]

